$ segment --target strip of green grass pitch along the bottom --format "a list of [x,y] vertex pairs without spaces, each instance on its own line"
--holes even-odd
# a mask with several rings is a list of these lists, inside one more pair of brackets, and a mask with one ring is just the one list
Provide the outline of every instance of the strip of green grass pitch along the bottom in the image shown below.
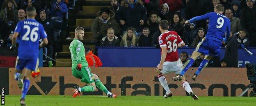
[[[5,105],[20,106],[20,97],[5,95]],[[27,95],[25,101],[27,106],[256,106],[256,97]]]

